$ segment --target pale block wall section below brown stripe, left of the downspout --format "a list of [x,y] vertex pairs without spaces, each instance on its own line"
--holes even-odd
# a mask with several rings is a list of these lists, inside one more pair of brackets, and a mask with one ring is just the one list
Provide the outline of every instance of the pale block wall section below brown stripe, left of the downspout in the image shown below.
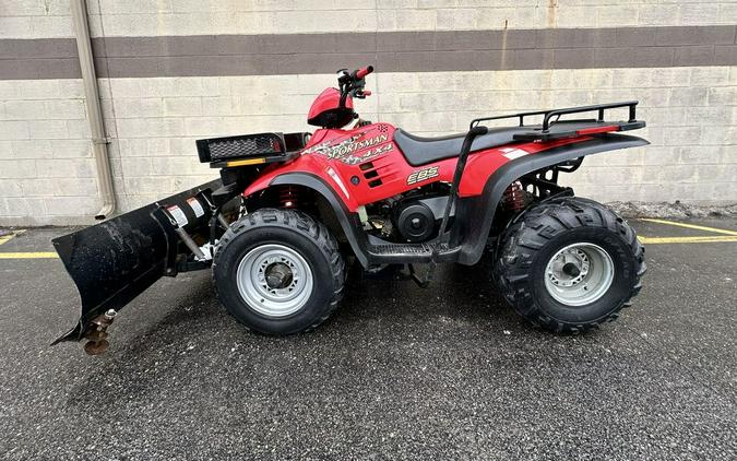
[[91,145],[81,81],[0,81],[0,223],[96,213]]

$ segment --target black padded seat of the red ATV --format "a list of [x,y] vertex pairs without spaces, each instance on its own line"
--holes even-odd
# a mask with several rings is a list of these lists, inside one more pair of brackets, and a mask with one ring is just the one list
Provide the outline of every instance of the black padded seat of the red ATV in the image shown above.
[[[509,144],[514,141],[514,134],[528,131],[528,127],[491,128],[487,134],[474,140],[471,152]],[[400,146],[409,165],[420,166],[456,157],[461,153],[465,135],[466,133],[460,133],[441,138],[420,138],[397,128],[394,131],[394,142]]]

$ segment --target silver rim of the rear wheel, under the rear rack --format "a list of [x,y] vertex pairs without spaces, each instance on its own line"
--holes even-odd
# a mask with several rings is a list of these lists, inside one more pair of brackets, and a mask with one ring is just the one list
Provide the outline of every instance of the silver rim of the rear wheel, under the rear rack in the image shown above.
[[554,299],[567,306],[598,300],[611,282],[611,257],[594,244],[573,244],[560,249],[545,269],[545,287]]

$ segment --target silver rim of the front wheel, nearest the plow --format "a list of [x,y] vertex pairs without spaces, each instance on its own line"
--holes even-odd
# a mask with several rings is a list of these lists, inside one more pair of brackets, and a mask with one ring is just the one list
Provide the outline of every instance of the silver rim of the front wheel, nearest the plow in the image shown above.
[[312,293],[312,271],[305,258],[283,245],[262,245],[238,264],[238,292],[257,312],[289,316],[307,304]]

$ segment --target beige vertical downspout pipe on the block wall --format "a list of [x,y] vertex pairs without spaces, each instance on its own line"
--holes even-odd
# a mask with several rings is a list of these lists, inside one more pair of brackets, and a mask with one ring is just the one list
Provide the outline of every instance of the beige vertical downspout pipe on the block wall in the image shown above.
[[110,170],[110,157],[107,150],[107,138],[103,123],[103,109],[99,104],[99,91],[97,88],[97,74],[95,61],[92,55],[92,39],[90,38],[90,24],[87,23],[87,5],[85,0],[72,0],[72,22],[76,37],[76,51],[80,57],[82,69],[82,83],[87,104],[87,120],[92,132],[92,152],[95,157],[97,169],[97,185],[103,199],[103,208],[95,215],[96,220],[104,220],[112,214],[116,208],[115,191],[112,190],[112,173]]

